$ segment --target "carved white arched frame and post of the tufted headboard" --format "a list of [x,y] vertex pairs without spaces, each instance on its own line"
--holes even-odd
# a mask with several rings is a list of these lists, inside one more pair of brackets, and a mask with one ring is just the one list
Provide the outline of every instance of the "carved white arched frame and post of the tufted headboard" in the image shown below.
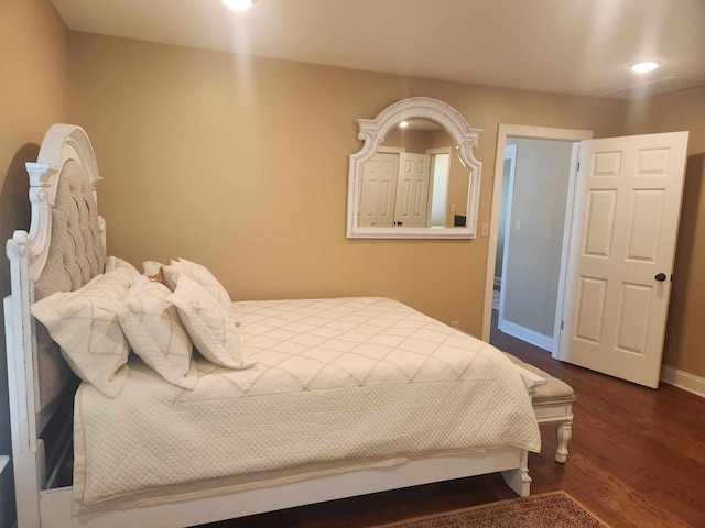
[[[18,526],[39,527],[40,494],[46,486],[44,442],[39,438],[46,419],[40,419],[39,373],[34,319],[34,283],[48,255],[52,206],[56,199],[56,178],[67,160],[86,167],[91,182],[98,168],[88,135],[80,127],[54,124],[44,136],[36,163],[26,163],[32,208],[30,231],[15,231],[7,243],[12,294],[4,298],[6,344],[12,465],[14,469]],[[100,219],[102,220],[102,219]],[[101,228],[105,222],[100,221]],[[102,229],[105,244],[105,229]]]

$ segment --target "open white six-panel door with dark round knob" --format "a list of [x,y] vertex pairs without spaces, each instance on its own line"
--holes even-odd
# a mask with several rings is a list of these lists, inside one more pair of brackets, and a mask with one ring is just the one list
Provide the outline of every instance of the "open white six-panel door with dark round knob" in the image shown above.
[[581,143],[560,359],[657,388],[687,132]]

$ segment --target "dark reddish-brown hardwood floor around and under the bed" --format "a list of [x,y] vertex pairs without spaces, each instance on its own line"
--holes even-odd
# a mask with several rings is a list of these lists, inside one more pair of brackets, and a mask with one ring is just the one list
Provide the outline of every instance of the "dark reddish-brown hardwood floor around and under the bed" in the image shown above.
[[[567,463],[555,427],[530,454],[531,492],[563,490],[612,528],[705,528],[705,399],[652,391],[551,359],[492,332],[492,344],[564,380],[578,397]],[[210,528],[354,528],[513,498],[501,476],[430,484],[208,525]]]

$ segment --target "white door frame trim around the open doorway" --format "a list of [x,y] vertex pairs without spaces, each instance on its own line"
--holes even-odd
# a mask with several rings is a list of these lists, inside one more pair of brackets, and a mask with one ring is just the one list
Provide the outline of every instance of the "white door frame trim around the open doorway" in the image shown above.
[[[495,178],[492,183],[492,205],[491,205],[491,218],[490,218],[490,230],[489,230],[489,240],[488,240],[488,249],[487,249],[487,266],[485,274],[485,309],[482,312],[482,341],[489,343],[490,339],[490,329],[492,321],[492,289],[495,285],[495,264],[497,261],[497,235],[499,232],[499,208],[501,204],[501,193],[502,193],[502,170],[505,166],[505,147],[507,145],[507,138],[525,138],[533,140],[556,140],[556,141],[572,141],[572,142],[581,142],[584,140],[593,139],[592,130],[579,130],[579,129],[558,129],[558,128],[547,128],[547,127],[531,127],[523,124],[506,124],[500,123],[497,130],[497,150],[495,154]],[[573,184],[572,184],[573,185]],[[572,199],[572,188],[568,189],[570,198]],[[566,219],[570,219],[570,216],[566,211]],[[568,220],[566,220],[566,226],[570,226]],[[570,231],[566,229],[566,231]],[[565,253],[565,246],[567,245],[568,232],[564,232],[564,248],[563,252]],[[561,280],[565,282],[565,271],[561,272]],[[562,292],[563,284],[558,285],[558,300],[562,300]],[[560,324],[560,319],[562,317],[562,309],[558,310],[560,306],[556,305],[556,326]],[[558,339],[555,339],[554,342],[560,343]],[[557,358],[558,346],[554,346],[551,355],[553,358]]]

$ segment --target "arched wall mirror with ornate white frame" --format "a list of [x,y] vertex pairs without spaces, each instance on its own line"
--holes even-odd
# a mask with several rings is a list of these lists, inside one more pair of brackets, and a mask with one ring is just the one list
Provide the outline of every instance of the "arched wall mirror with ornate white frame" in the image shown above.
[[364,143],[349,160],[348,238],[475,238],[480,129],[427,97],[357,122]]

